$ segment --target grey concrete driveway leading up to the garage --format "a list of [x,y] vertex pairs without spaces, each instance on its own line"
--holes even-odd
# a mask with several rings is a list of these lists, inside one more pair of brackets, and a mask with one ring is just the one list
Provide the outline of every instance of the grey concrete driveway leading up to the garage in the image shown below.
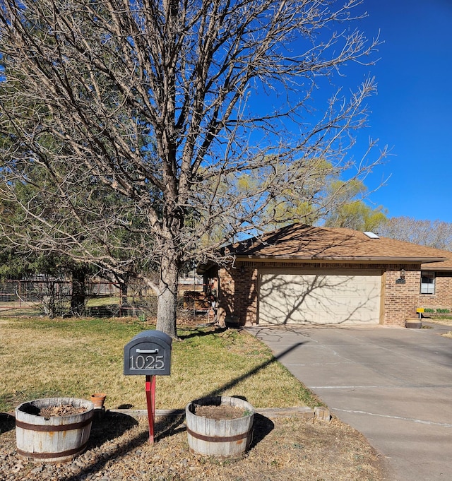
[[451,327],[250,328],[386,459],[391,481],[452,480]]

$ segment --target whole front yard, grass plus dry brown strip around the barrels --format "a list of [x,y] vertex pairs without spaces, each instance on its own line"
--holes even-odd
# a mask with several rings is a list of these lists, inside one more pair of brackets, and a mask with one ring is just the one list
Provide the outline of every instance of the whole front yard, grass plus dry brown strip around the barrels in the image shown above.
[[[153,328],[138,319],[0,319],[0,411],[47,396],[107,393],[107,409],[145,408],[145,376],[124,376],[124,345]],[[172,374],[158,376],[157,408],[184,408],[208,394],[245,397],[256,408],[319,405],[246,331],[181,326],[172,343]],[[182,418],[157,419],[148,443],[145,417],[107,412],[93,423],[88,450],[74,463],[20,461],[11,416],[0,417],[0,478],[8,480],[381,481],[381,457],[354,429],[333,418],[256,413],[244,458],[189,452]]]

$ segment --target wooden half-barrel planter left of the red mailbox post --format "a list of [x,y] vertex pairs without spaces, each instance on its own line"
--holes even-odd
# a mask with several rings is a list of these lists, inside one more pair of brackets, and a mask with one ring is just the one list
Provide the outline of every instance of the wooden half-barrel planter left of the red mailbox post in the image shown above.
[[[43,417],[40,410],[72,405],[78,414]],[[83,453],[93,422],[94,405],[76,398],[44,398],[16,408],[16,444],[20,457],[44,463],[64,463]]]

